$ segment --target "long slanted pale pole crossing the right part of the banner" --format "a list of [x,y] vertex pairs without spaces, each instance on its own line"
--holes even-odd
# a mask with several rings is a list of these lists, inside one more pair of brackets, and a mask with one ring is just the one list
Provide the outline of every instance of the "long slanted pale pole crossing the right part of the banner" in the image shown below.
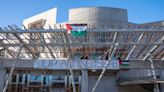
[[112,57],[114,56],[115,52],[116,52],[116,49],[117,49],[117,46],[118,46],[118,43],[115,44],[115,47],[113,49],[113,52],[109,58],[109,61],[106,63],[105,67],[103,68],[98,80],[96,81],[95,85],[93,86],[93,89],[92,89],[92,92],[95,92],[96,90],[96,87],[98,86],[98,84],[100,83],[100,80],[102,79],[103,75],[105,74],[105,71],[106,69],[108,68],[109,64],[110,64],[110,61],[112,59]]

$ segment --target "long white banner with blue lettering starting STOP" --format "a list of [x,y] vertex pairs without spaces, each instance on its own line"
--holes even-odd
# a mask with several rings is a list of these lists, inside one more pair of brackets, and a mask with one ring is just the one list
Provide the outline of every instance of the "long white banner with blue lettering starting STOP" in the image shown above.
[[[107,60],[36,60],[34,68],[44,69],[103,69]],[[111,60],[107,69],[119,69],[117,60]]]

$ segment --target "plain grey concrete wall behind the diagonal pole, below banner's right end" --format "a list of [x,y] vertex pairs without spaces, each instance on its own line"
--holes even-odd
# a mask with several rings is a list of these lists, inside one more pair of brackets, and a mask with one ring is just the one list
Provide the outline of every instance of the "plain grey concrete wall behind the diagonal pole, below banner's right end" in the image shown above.
[[[92,92],[93,85],[97,77],[89,76],[89,92]],[[139,85],[119,86],[116,84],[116,76],[104,76],[96,88],[95,92],[150,92]]]

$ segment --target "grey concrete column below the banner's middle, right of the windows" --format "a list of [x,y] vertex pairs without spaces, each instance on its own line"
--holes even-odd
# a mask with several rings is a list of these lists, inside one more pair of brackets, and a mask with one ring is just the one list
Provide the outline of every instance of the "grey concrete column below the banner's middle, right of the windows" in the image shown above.
[[88,70],[81,70],[81,92],[88,92]]

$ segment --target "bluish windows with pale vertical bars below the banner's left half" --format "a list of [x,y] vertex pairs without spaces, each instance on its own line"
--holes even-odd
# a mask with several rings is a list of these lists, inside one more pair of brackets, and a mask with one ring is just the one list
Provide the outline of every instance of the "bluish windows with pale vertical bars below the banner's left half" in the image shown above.
[[[8,75],[8,74],[7,74]],[[40,71],[15,72],[7,92],[73,92],[68,71],[42,73]],[[74,76],[76,92],[80,92],[81,75]]]

